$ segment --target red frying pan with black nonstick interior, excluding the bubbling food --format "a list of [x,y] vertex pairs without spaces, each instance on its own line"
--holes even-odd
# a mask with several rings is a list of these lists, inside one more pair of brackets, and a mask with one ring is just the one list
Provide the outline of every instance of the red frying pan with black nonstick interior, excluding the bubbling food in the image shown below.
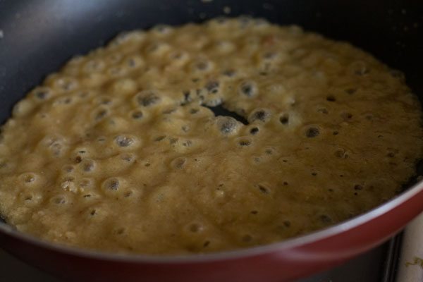
[[[352,42],[393,68],[423,97],[423,1],[0,0],[0,122],[25,92],[74,54],[122,30],[249,14]],[[400,231],[423,211],[423,184],[323,231],[282,243],[190,257],[116,255],[45,243],[0,223],[0,246],[67,280],[290,281],[341,264]]]

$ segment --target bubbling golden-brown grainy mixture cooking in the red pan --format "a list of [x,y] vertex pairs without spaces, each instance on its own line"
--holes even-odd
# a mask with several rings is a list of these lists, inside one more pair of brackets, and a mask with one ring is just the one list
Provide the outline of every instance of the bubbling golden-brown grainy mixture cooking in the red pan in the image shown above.
[[300,27],[136,30],[16,104],[1,130],[0,214],[107,252],[274,243],[396,195],[422,157],[421,116],[402,73]]

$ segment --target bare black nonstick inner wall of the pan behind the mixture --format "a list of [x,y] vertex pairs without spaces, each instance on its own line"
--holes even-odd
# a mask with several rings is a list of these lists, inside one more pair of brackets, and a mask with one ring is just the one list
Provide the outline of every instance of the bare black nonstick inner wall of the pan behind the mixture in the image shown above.
[[352,42],[403,71],[423,100],[423,1],[0,0],[0,124],[45,75],[118,32],[239,15],[295,23]]

